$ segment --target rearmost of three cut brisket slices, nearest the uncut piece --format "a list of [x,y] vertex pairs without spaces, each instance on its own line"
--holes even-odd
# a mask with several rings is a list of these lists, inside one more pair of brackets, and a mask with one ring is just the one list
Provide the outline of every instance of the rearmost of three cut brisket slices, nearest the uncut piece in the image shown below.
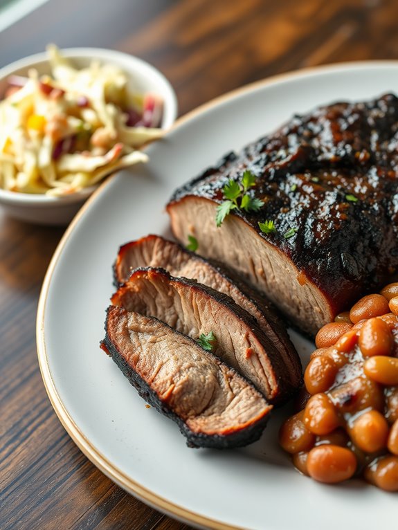
[[209,262],[158,235],[148,235],[120,247],[114,266],[116,283],[122,284],[127,281],[134,269],[148,266],[165,268],[175,277],[192,278],[233,298],[257,320],[260,329],[278,349],[291,385],[300,386],[302,383],[300,358],[284,323],[264,295],[260,295],[251,286],[242,282],[225,266]]

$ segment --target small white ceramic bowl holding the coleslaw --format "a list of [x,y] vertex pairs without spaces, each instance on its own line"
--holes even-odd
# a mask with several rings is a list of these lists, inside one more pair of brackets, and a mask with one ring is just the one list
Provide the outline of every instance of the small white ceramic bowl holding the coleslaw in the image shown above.
[[[156,68],[145,61],[113,50],[101,48],[68,48],[62,55],[73,60],[78,68],[89,66],[93,59],[116,64],[129,77],[129,86],[134,92],[152,92],[161,95],[164,102],[161,127],[168,129],[177,118],[177,97],[171,84]],[[0,70],[0,94],[7,86],[10,75],[26,75],[29,68],[36,68],[39,75],[49,72],[46,53],[30,55],[13,62]],[[42,194],[8,192],[0,188],[0,205],[11,217],[38,224],[65,225],[71,221],[84,201],[95,190],[91,187],[69,197],[47,197]]]

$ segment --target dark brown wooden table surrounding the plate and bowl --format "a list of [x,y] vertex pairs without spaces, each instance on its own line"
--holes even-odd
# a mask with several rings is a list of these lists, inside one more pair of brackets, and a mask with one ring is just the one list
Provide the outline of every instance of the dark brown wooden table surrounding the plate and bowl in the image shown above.
[[[396,58],[397,17],[396,0],[50,0],[0,33],[0,66],[48,42],[115,48],[165,73],[182,115],[275,73]],[[0,527],[186,529],[102,475],[48,401],[35,313],[63,231],[0,210]]]

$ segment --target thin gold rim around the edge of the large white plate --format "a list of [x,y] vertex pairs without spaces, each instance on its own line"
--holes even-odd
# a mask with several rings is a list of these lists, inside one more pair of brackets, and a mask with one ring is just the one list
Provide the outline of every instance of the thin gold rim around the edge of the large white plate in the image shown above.
[[[239,89],[230,91],[224,95],[219,96],[218,98],[211,100],[208,103],[201,105],[200,107],[197,107],[197,109],[190,111],[182,118],[179,118],[172,125],[172,127],[168,129],[168,132],[174,131],[174,129],[181,127],[181,125],[192,120],[193,118],[203,113],[204,111],[208,111],[209,109],[212,109],[213,107],[217,107],[222,102],[226,102],[227,100],[233,99],[237,97],[238,95],[251,92],[254,89],[259,89],[264,86],[269,86],[271,84],[275,84],[278,82],[293,80],[297,77],[311,75],[312,73],[316,74],[318,72],[323,73],[323,72],[342,71],[342,70],[347,70],[350,68],[360,68],[360,67],[367,68],[371,66],[389,66],[391,64],[398,64],[398,62],[396,60],[343,62],[343,63],[337,63],[337,64],[329,64],[326,66],[315,66],[312,68],[302,68],[297,71],[293,71],[289,73],[282,73],[280,75],[274,75],[272,77],[267,78],[266,80],[256,81],[246,86],[243,86]],[[60,395],[58,394],[57,389],[55,387],[53,378],[51,376],[50,368],[48,366],[48,358],[47,358],[47,353],[46,353],[46,340],[44,336],[44,313],[46,310],[48,288],[51,283],[51,278],[53,277],[55,266],[57,265],[58,259],[60,259],[62,250],[64,249],[64,246],[66,244],[66,241],[68,241],[75,226],[78,224],[78,222],[84,215],[84,212],[89,208],[89,206],[91,205],[91,202],[96,200],[97,195],[102,193],[102,190],[105,189],[105,187],[109,184],[109,182],[113,178],[114,177],[111,176],[104,183],[102,183],[102,185],[100,185],[100,187],[95,192],[93,192],[91,197],[89,197],[87,202],[84,203],[82,208],[79,210],[78,214],[75,215],[73,221],[71,221],[71,224],[69,225],[69,227],[66,229],[66,232],[62,236],[62,239],[60,240],[60,243],[58,244],[55,250],[55,253],[51,259],[51,262],[48,266],[46,276],[44,277],[42,291],[39,297],[39,304],[37,307],[36,342],[37,342],[37,357],[39,360],[40,372],[42,373],[44,387],[46,388],[48,398],[50,399],[51,405],[53,405],[55,413],[57,414],[57,417],[60,419],[66,432],[68,432],[69,436],[73,439],[73,441],[78,446],[78,448],[80,448],[82,453],[84,453],[84,455],[86,455],[87,458],[96,467],[98,467],[102,471],[102,473],[104,473],[105,475],[107,475],[107,477],[109,477],[111,480],[116,482],[118,486],[125,489],[125,491],[138,497],[143,502],[150,504],[150,506],[152,506],[154,509],[160,509],[164,513],[168,513],[169,515],[172,515],[172,517],[182,520],[183,522],[189,522],[190,524],[195,524],[196,526],[199,526],[199,527],[209,527],[215,530],[242,530],[242,527],[232,526],[230,524],[227,524],[221,521],[210,519],[204,515],[201,515],[200,513],[190,511],[184,508],[183,506],[174,504],[173,502],[170,502],[164,497],[161,497],[160,495],[156,495],[156,493],[153,493],[152,491],[145,488],[144,486],[142,486],[141,484],[133,480],[131,477],[123,473],[122,470],[120,470],[119,468],[114,466],[114,464],[109,462],[107,457],[102,455],[100,451],[98,451],[98,449],[95,446],[93,446],[93,444],[91,444],[91,441],[89,441],[89,439],[87,439],[87,437],[84,436],[83,432],[80,430],[80,428],[78,428],[76,423],[73,421],[73,419],[69,415],[69,412],[66,410],[64,403],[62,403],[62,399]]]

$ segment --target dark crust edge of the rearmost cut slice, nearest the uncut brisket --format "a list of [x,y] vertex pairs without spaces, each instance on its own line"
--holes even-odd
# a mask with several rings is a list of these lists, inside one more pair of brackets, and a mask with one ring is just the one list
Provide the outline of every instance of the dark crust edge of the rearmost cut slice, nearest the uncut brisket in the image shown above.
[[[296,384],[298,387],[302,385],[302,367],[300,357],[298,356],[293,342],[291,342],[289,334],[287,333],[286,326],[284,325],[284,322],[282,321],[278,310],[270,300],[268,300],[264,295],[261,295],[255,289],[253,289],[253,287],[249,286],[239,277],[239,275],[234,273],[225,264],[221,264],[213,259],[206,259],[184,248],[182,245],[175,243],[174,241],[164,239],[159,235],[150,234],[146,237],[138,239],[137,241],[130,241],[129,243],[120,246],[117,262],[121,262],[123,260],[123,255],[126,250],[136,245],[145,244],[148,239],[159,239],[167,244],[174,245],[177,252],[183,253],[184,255],[190,257],[190,259],[192,259],[193,261],[203,264],[204,266],[211,268],[213,271],[217,271],[217,273],[219,273],[219,275],[221,275],[221,277],[223,277],[226,282],[228,282],[229,284],[233,284],[233,286],[239,289],[242,295],[248,300],[250,300],[255,305],[257,310],[262,313],[264,319],[269,323],[270,327],[273,329],[275,334],[278,335],[278,338],[280,339],[280,342],[284,347],[284,351],[287,353],[290,359],[289,368],[292,370],[294,374],[293,377],[296,379],[293,384]],[[166,265],[163,268],[165,268],[166,270],[168,269]],[[119,287],[121,284],[123,284],[125,280],[127,280],[127,278],[122,278],[118,275],[118,270],[115,262],[114,282],[116,287]]]

